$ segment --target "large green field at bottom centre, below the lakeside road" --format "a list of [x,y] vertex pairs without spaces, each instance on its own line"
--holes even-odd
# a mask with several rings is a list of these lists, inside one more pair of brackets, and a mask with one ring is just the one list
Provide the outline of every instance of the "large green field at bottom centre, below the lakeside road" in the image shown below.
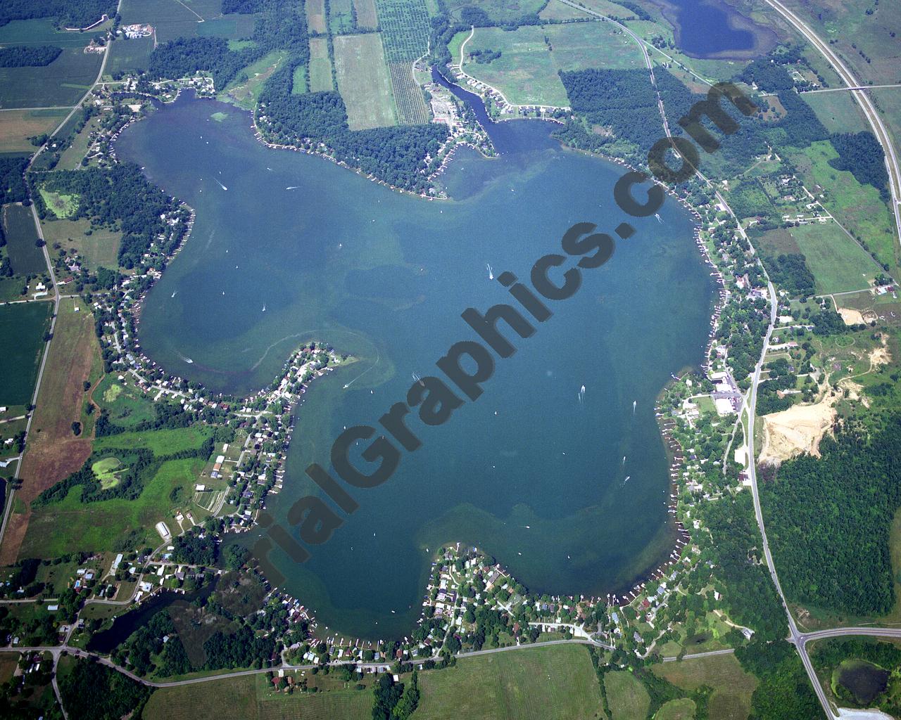
[[462,658],[420,673],[419,687],[418,720],[579,720],[596,717],[601,705],[591,659],[575,645]]

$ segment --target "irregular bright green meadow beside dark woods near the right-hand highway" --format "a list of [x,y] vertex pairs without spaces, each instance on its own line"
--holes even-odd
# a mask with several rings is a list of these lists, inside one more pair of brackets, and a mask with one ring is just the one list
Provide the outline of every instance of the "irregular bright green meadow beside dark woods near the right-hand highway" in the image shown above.
[[829,160],[833,157],[838,157],[838,153],[831,142],[823,140],[813,143],[803,154],[792,159],[811,192],[819,194],[823,188],[828,188],[822,202],[836,220],[860,236],[880,262],[897,273],[897,239],[886,203],[872,185],[861,185],[851,172],[830,166]]

